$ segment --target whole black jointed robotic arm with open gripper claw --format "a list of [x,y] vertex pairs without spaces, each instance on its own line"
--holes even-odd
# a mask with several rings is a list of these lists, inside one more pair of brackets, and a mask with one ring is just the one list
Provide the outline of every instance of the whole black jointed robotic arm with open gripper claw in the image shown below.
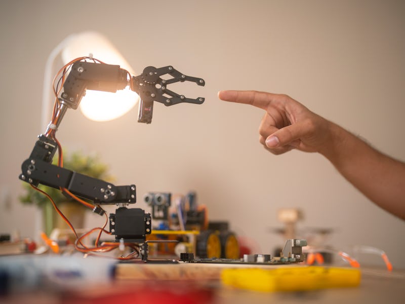
[[[89,199],[94,202],[93,211],[103,215],[104,210],[99,205],[116,204],[119,208],[116,214],[110,214],[110,232],[116,240],[132,242],[145,241],[145,234],[151,231],[150,214],[143,210],[127,209],[125,206],[136,203],[136,186],[115,186],[109,182],[89,177],[60,166],[52,164],[52,159],[58,149],[58,142],[51,136],[59,127],[62,118],[68,108],[76,109],[86,94],[86,90],[98,90],[116,92],[128,85],[131,90],[140,96],[138,122],[151,123],[153,113],[153,101],[164,103],[166,106],[188,102],[201,104],[204,98],[186,98],[167,89],[167,86],[175,82],[190,81],[199,86],[204,86],[203,79],[190,77],[182,74],[172,66],[155,68],[146,67],[139,76],[128,79],[128,71],[119,65],[105,63],[86,62],[77,60],[71,65],[63,91],[58,97],[60,105],[58,119],[52,121],[45,135],[39,135],[31,155],[21,166],[19,178],[25,182],[37,186],[38,184],[60,188],[62,191]],[[172,79],[161,78],[170,74]],[[131,75],[130,75],[131,76]]]

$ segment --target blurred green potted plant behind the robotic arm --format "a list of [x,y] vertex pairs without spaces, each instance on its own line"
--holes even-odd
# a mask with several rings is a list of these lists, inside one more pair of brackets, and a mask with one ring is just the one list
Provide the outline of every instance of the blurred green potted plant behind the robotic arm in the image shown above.
[[[57,164],[58,158],[55,157],[53,164]],[[90,177],[112,181],[112,176],[108,174],[108,166],[99,160],[98,156],[84,155],[80,151],[71,154],[63,153],[63,167]],[[49,235],[55,227],[67,228],[68,225],[55,211],[52,203],[42,193],[36,191],[28,183],[23,183],[25,193],[19,197],[23,204],[35,204],[43,210],[44,230]],[[75,228],[84,227],[85,212],[87,207],[66,197],[59,189],[40,184],[40,189],[45,191],[54,200],[61,212],[69,219]]]

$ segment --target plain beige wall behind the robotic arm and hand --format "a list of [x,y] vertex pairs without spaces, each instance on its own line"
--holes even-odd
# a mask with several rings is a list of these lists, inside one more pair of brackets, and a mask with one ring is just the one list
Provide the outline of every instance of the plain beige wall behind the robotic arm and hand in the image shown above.
[[[137,185],[139,201],[148,191],[195,190],[211,219],[229,220],[261,252],[284,243],[271,232],[281,226],[277,210],[296,207],[305,213],[299,227],[335,230],[325,245],[375,246],[405,268],[405,222],[320,155],[267,153],[258,142],[262,110],[217,98],[221,89],[289,94],[404,161],[403,16],[402,1],[0,1],[0,232],[35,237],[35,208],[19,203],[18,175],[44,132],[45,62],[67,35],[97,30],[137,73],[173,65],[204,78],[204,88],[176,90],[206,101],[156,104],[151,125],[136,122],[137,109],[106,123],[69,110],[57,133],[66,149],[100,155],[117,185]],[[99,220],[89,213],[87,225]]]

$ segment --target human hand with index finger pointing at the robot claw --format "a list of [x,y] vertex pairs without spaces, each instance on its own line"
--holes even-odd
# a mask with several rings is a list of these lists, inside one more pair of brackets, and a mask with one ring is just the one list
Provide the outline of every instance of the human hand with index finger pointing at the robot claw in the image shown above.
[[266,111],[259,127],[259,141],[273,154],[282,154],[293,148],[321,153],[331,140],[333,124],[287,95],[220,91],[218,97],[251,104]]

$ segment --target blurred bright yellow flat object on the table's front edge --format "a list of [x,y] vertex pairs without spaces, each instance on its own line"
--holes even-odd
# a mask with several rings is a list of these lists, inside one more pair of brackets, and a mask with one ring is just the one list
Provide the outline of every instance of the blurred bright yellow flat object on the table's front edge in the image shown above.
[[224,285],[254,291],[305,291],[337,287],[355,287],[361,273],[355,268],[321,266],[276,269],[225,269]]

